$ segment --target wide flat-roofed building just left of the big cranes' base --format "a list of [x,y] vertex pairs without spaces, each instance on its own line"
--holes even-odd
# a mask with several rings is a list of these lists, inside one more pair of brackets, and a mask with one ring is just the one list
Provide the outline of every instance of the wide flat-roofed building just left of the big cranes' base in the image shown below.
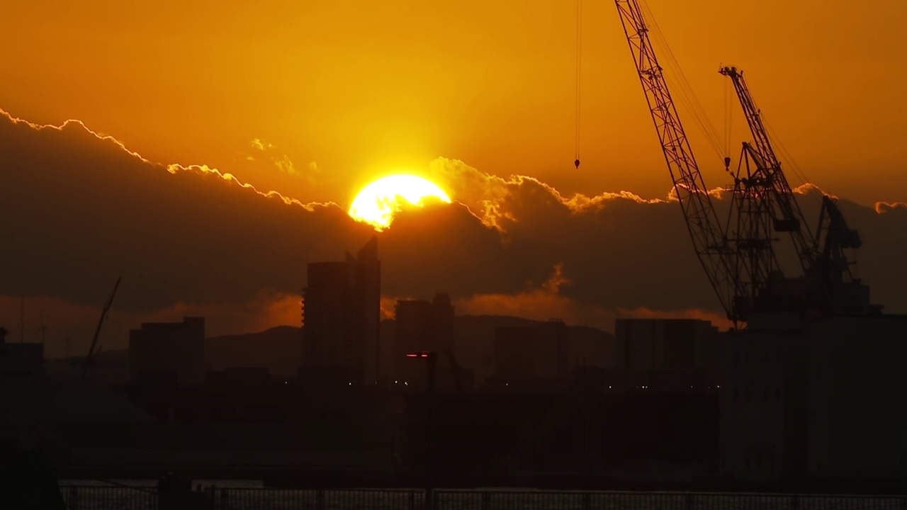
[[717,389],[717,328],[697,319],[617,319],[616,380],[623,389]]

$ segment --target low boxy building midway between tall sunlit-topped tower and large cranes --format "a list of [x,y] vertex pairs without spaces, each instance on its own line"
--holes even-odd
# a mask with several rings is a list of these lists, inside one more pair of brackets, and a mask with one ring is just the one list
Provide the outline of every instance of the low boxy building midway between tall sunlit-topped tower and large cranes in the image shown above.
[[561,320],[494,329],[494,378],[507,384],[570,377],[570,338]]

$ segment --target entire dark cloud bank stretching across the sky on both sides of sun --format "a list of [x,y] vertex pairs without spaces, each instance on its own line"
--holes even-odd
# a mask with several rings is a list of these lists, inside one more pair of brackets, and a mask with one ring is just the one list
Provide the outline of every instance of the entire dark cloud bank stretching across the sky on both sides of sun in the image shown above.
[[[0,273],[0,302],[15,312],[26,296],[26,332],[36,313],[51,325],[78,316],[84,348],[118,276],[111,317],[122,318],[121,331],[182,314],[208,316],[219,333],[297,325],[307,263],[343,260],[375,235],[336,203],[258,190],[205,165],[150,162],[78,121],[42,126],[0,114],[0,165],[0,267],[13,269]],[[519,172],[503,178],[444,158],[425,177],[454,203],[405,208],[378,234],[385,316],[393,297],[448,292],[461,313],[606,329],[630,312],[720,318],[669,193],[565,196]],[[823,191],[798,192],[806,217],[817,218]],[[715,201],[719,217],[728,202]],[[905,208],[838,203],[863,237],[858,267],[873,297],[907,311]],[[0,316],[13,337],[14,312]],[[110,341],[124,345],[116,335]]]

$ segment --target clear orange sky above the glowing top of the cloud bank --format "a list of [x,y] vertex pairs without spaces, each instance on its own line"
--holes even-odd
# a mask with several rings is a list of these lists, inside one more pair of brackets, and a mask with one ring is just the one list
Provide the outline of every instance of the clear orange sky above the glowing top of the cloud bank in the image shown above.
[[[303,201],[346,203],[376,174],[439,156],[568,193],[663,197],[668,172],[616,9],[583,4],[579,172],[565,1],[9,3],[0,107],[78,118],[151,161],[208,164]],[[736,64],[811,181],[865,204],[907,200],[907,2],[649,5],[719,133],[717,66]],[[707,183],[723,184],[720,154],[685,113]]]

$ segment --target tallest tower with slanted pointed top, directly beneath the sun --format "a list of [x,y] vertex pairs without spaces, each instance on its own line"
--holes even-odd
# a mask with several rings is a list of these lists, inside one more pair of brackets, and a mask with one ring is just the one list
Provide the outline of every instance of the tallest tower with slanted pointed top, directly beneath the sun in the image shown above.
[[313,262],[303,291],[300,376],[374,384],[381,325],[381,262],[373,237],[342,262]]

